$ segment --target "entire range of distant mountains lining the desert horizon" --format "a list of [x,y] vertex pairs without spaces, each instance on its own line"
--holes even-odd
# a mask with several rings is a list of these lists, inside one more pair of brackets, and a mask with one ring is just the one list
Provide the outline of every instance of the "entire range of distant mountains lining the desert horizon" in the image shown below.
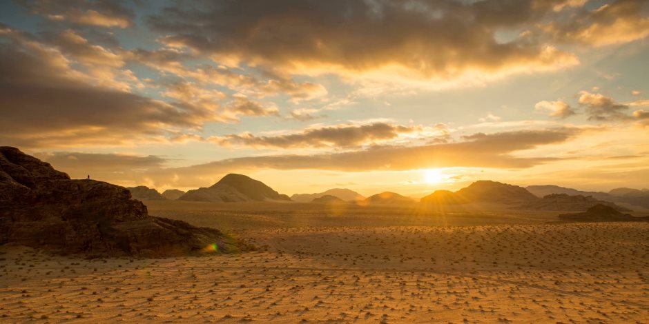
[[[413,199],[396,192],[382,192],[365,198],[358,192],[334,188],[316,194],[293,194],[291,198],[243,174],[227,174],[209,188],[182,192],[166,190],[160,194],[144,186],[128,188],[134,199],[181,200],[209,202],[245,201],[297,201],[307,203],[356,203],[358,205],[411,205]],[[649,190],[617,188],[610,192],[584,192],[557,185],[530,185],[527,188],[497,181],[476,181],[456,192],[438,190],[420,199],[426,205],[462,205],[469,203],[497,203],[516,210],[585,211],[594,205],[606,205],[618,212],[628,208],[617,205],[625,203],[649,208]]]

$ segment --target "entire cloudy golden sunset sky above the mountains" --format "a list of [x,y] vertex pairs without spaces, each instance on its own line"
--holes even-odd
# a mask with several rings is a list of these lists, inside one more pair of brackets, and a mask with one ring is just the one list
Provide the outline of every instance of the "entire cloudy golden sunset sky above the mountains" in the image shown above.
[[0,1],[0,145],[159,191],[649,187],[649,1]]

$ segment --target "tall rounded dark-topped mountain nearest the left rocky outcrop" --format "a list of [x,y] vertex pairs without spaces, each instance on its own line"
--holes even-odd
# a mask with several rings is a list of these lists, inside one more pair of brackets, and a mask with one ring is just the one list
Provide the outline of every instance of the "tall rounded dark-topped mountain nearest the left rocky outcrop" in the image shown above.
[[291,201],[261,181],[243,174],[227,174],[209,188],[189,190],[180,196],[182,201],[211,201],[232,203],[238,201]]

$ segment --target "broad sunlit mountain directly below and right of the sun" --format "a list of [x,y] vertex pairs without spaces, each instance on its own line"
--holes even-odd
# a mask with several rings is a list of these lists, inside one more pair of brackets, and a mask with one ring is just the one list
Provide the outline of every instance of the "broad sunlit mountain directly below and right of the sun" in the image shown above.
[[496,181],[476,181],[456,192],[438,190],[423,197],[422,203],[525,203],[539,200],[534,194],[518,185],[508,185]]

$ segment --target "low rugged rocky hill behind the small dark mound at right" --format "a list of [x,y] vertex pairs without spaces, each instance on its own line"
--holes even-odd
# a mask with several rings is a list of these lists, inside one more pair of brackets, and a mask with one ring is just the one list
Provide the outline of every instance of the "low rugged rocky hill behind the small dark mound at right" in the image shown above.
[[615,205],[608,201],[594,199],[592,196],[570,196],[568,194],[548,194],[538,201],[523,203],[516,207],[520,210],[565,210],[565,211],[585,211],[594,205],[607,205],[619,212],[630,212],[628,208]]

